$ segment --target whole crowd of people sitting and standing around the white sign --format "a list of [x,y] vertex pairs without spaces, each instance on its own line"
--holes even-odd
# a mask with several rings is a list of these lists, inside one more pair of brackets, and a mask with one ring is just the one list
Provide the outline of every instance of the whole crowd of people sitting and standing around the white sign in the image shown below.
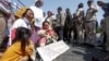
[[[58,14],[48,11],[46,16],[46,12],[41,9],[43,4],[43,0],[36,0],[35,5],[23,7],[14,14],[11,1],[0,0],[0,52],[4,52],[0,61],[34,60],[33,56],[37,47],[59,40],[96,46],[98,8],[93,0],[87,1],[86,14],[84,4],[80,3],[73,14],[69,8],[63,13],[62,8],[59,7]],[[105,11],[100,24],[104,50],[108,50],[109,3],[98,0],[97,4]]]

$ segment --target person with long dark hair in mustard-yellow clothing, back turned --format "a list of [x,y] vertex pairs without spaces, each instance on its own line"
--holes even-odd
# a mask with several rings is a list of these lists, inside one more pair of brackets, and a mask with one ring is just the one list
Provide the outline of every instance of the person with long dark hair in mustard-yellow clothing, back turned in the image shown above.
[[31,35],[28,28],[17,27],[12,46],[7,49],[0,61],[28,61],[34,52]]

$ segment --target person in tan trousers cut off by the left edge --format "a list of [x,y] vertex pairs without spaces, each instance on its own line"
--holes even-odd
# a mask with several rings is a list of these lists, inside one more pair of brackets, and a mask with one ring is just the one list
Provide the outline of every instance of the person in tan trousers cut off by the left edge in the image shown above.
[[[0,49],[3,45],[3,40],[5,38],[5,32],[7,32],[7,20],[11,15],[11,9],[10,9],[10,1],[9,0],[0,0]],[[1,45],[2,44],[2,45]]]

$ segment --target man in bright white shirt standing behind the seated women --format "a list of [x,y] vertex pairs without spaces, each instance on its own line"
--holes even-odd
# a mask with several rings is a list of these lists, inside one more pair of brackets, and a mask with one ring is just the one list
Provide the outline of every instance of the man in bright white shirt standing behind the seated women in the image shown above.
[[35,5],[29,8],[34,12],[35,25],[38,26],[38,27],[41,27],[43,22],[45,21],[45,20],[43,20],[44,19],[44,12],[43,12],[43,9],[40,9],[40,7],[43,7],[43,1],[36,0]]

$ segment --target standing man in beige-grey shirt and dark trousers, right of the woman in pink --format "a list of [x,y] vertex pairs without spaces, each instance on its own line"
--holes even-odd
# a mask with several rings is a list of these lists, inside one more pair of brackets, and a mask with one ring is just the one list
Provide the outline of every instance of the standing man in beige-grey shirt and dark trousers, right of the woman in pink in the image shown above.
[[65,16],[64,13],[62,13],[62,8],[59,7],[57,9],[58,14],[57,14],[57,21],[56,21],[56,32],[59,36],[59,40],[63,40],[63,26],[64,26],[64,21],[65,21]]

